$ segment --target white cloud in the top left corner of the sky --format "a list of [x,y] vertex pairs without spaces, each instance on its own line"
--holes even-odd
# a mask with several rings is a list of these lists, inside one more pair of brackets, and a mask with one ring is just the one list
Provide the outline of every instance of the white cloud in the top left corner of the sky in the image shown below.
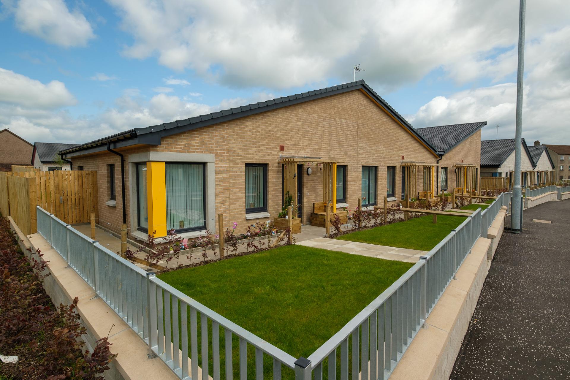
[[19,30],[63,47],[86,46],[95,38],[79,10],[70,12],[63,0],[2,1],[14,13]]

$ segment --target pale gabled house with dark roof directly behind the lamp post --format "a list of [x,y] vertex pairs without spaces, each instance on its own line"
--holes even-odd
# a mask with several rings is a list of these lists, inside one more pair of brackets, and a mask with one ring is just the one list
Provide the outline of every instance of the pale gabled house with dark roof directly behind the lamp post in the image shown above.
[[[527,172],[536,167],[524,138],[521,144],[521,185],[527,186]],[[481,141],[481,177],[509,177],[512,182],[515,170],[515,139]]]

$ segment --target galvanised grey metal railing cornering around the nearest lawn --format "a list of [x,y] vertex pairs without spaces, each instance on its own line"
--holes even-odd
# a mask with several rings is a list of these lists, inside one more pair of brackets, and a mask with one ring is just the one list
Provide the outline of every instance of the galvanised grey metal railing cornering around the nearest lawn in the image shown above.
[[[508,195],[504,193],[491,203],[484,213],[487,218],[484,223],[481,209],[467,217],[307,359],[295,359],[40,207],[37,208],[38,232],[148,344],[149,356],[160,357],[181,379],[198,379],[201,371],[202,379],[211,375],[214,380],[220,380],[222,368],[225,380],[233,380],[232,341],[237,336],[240,380],[247,380],[248,345],[255,348],[251,360],[255,361],[256,380],[263,380],[264,358],[272,360],[274,380],[281,380],[282,365],[295,370],[296,380],[311,380],[313,373],[315,380],[321,380],[324,363],[328,371],[325,376],[336,379],[339,350],[341,380],[384,380],[424,325],[482,230],[488,228],[505,200],[508,205]],[[220,328],[224,334],[223,352]],[[349,366],[349,358],[352,366]]]

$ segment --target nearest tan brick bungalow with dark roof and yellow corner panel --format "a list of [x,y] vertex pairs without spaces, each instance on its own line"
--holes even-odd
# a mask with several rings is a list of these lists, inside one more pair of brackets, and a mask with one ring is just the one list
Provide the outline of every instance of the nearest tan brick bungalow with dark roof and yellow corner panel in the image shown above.
[[[477,131],[475,146],[446,165],[478,164]],[[432,191],[442,157],[362,80],[135,128],[60,153],[74,167],[98,171],[97,223],[113,231],[125,223],[135,239],[172,228],[185,238],[214,232],[219,214],[244,232],[279,214],[284,189],[304,224],[325,198],[351,210],[358,198],[363,207],[384,197],[396,203],[402,171],[424,167],[424,189]]]

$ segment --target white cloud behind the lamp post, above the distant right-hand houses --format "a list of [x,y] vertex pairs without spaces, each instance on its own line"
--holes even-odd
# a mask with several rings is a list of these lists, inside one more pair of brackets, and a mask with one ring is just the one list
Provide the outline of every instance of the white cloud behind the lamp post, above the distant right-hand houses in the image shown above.
[[[523,137],[527,142],[567,144],[570,141],[570,26],[545,33],[527,44],[524,79]],[[437,96],[407,119],[416,128],[487,121],[483,140],[515,136],[516,83]]]

